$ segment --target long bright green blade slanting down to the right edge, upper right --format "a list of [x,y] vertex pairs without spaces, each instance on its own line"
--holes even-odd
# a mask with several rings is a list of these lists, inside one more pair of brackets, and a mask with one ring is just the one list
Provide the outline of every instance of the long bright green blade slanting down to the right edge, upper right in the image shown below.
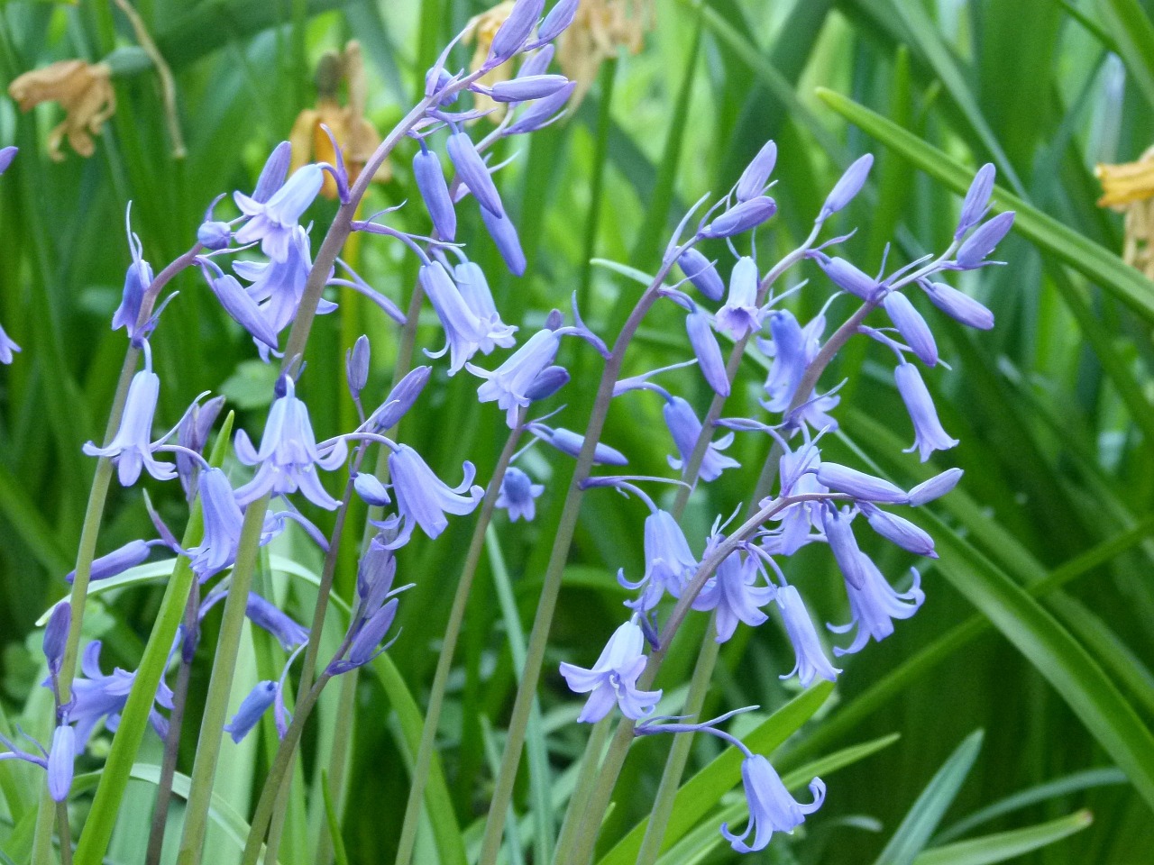
[[[840,93],[820,88],[817,95],[848,121],[959,195],[969,188],[973,171],[943,151]],[[1003,209],[1017,212],[1014,230],[1018,233],[1032,240],[1054,258],[1069,264],[1087,279],[1106,288],[1148,323],[1154,323],[1154,283],[1124,264],[1109,249],[1088,240],[1002,187],[995,188],[992,198]]]

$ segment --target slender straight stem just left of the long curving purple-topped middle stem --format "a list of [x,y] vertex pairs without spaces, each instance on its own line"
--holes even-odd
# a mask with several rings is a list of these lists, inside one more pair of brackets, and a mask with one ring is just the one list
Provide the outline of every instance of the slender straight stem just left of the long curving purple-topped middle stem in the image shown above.
[[405,820],[400,828],[397,865],[409,865],[413,857],[413,847],[417,842],[417,827],[425,796],[425,784],[428,780],[429,765],[433,760],[434,749],[436,747],[437,727],[441,723],[441,706],[449,684],[449,674],[452,670],[454,650],[457,648],[457,639],[460,637],[460,627],[465,620],[465,608],[473,586],[473,577],[477,574],[477,565],[481,561],[481,550],[485,547],[485,533],[489,527],[489,521],[493,519],[493,511],[496,507],[497,495],[501,491],[501,482],[504,480],[505,469],[508,469],[512,454],[517,450],[517,443],[524,432],[524,427],[522,426],[524,422],[525,409],[522,408],[517,416],[517,426],[509,432],[504,449],[501,451],[496,467],[493,469],[493,477],[485,490],[481,512],[477,518],[477,525],[473,527],[473,537],[469,543],[469,552],[465,554],[465,564],[460,572],[460,580],[457,582],[457,592],[452,597],[452,608],[449,610],[449,623],[445,625],[441,655],[437,659],[436,672],[433,675],[429,704],[425,710],[421,742],[417,749],[417,759],[413,762],[413,780],[412,785],[409,788]]

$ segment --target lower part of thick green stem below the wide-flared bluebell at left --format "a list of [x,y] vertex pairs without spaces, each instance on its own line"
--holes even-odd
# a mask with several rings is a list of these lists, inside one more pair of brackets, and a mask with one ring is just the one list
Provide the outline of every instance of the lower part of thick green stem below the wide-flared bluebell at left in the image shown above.
[[180,838],[180,852],[177,857],[179,865],[196,865],[204,848],[212,781],[216,777],[228,697],[232,693],[232,677],[237,667],[237,652],[240,648],[240,634],[245,624],[245,608],[248,604],[253,572],[256,570],[256,554],[260,549],[268,504],[268,495],[249,504],[245,511],[245,521],[241,524],[237,562],[232,569],[232,585],[228,586],[228,597],[224,604],[220,635],[212,659],[212,676],[209,679],[204,716],[201,721],[201,735],[196,742],[196,760],[193,762],[188,806],[185,811],[185,832]]

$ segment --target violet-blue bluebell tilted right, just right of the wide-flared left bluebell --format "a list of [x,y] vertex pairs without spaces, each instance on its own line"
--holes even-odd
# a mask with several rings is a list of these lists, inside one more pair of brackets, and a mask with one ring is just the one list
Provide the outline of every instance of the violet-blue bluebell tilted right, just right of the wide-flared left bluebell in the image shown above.
[[397,513],[402,520],[400,532],[391,547],[407,543],[414,526],[420,526],[429,537],[436,537],[449,526],[447,513],[460,517],[473,512],[477,503],[485,496],[485,489],[472,486],[477,474],[472,462],[464,464],[464,480],[450,488],[409,445],[398,445],[389,454],[392,491],[397,497]]

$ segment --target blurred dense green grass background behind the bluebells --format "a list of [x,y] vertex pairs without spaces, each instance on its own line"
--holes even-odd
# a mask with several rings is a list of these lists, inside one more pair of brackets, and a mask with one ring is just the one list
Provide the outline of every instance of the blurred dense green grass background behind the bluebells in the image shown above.
[[[0,371],[0,706],[6,725],[23,716],[35,729],[45,712],[36,687],[43,674],[33,623],[63,594],[61,577],[72,567],[93,468],[80,444],[99,437],[121,362],[123,334],[111,332],[107,322],[129,262],[121,228],[126,204],[133,202],[147,257],[163,266],[187,248],[209,201],[248,188],[269,149],[287,136],[298,112],[312,106],[312,74],[323,51],[360,40],[369,69],[369,116],[387,129],[413,98],[440,46],[484,7],[473,0],[141,0],[137,8],[177,76],[188,144],[182,161],[170,155],[156,77],[126,51],[134,44],[132,30],[111,5],[10,0],[0,7],[0,82],[6,86],[23,72],[75,57],[98,60],[111,53],[119,73],[117,114],[90,159],[69,153],[63,163],[50,161],[44,138],[59,120],[58,108],[24,115],[0,98],[0,143],[22,148],[0,181],[0,321],[24,348]],[[934,318],[953,371],[935,375],[931,388],[946,428],[961,438],[956,451],[938,454],[929,468],[901,454],[908,421],[887,368],[875,366],[877,346],[853,346],[831,377],[849,377],[839,409],[845,435],[831,456],[861,447],[904,484],[949,465],[965,468],[966,479],[937,506],[943,561],[926,573],[924,610],[885,644],[844,659],[846,675],[833,698],[790,740],[781,762],[796,768],[840,747],[889,734],[900,738],[831,775],[829,802],[804,832],[777,840],[751,860],[865,862],[900,823],[906,847],[886,848],[883,858],[911,862],[922,847],[938,845],[931,838],[951,823],[1041,784],[1057,787],[968,834],[1019,829],[1088,808],[1092,827],[1022,862],[1154,860],[1154,754],[1142,753],[1142,740],[1123,736],[1136,754],[1133,765],[1123,765],[1125,775],[1078,775],[1124,762],[1111,732],[1119,705],[1133,707],[1138,729],[1154,722],[1154,284],[1114,256],[1122,247],[1121,218],[1095,206],[1100,190],[1093,176],[1096,161],[1134,159],[1154,141],[1149,13],[1139,0],[717,0],[699,6],[661,0],[644,50],[604,65],[572,116],[532,136],[502,172],[502,193],[530,261],[523,279],[500,266],[475,210],[463,210],[460,235],[490,274],[505,321],[539,323],[576,291],[595,329],[620,322],[622,303],[631,301],[636,286],[590,260],[652,270],[685,203],[728,188],[769,137],[781,153],[774,190],[780,216],[760,234],[765,261],[804,238],[840,170],[864,151],[878,156],[872,183],[839,227],[860,226],[846,248],[865,270],[879,266],[887,243],[893,243],[891,263],[945,246],[957,215],[958,189],[951,183],[966,182],[954,163],[972,172],[994,161],[1006,194],[1056,220],[1019,206],[1029,216],[1019,219],[1020,232],[999,250],[1009,266],[966,276],[967,289],[997,315],[992,332],[975,336],[943,316]],[[919,148],[901,129],[932,150]],[[392,179],[372,194],[372,210],[415,194],[411,153],[410,148],[398,151]],[[312,211],[321,226],[331,212],[324,203]],[[425,218],[420,208],[396,217],[421,231]],[[1061,233],[1061,226],[1070,232]],[[403,304],[414,278],[412,261],[372,240],[361,242],[355,255],[373,285]],[[812,268],[803,276],[820,274]],[[802,295],[800,314],[816,311],[826,296],[820,285]],[[155,340],[164,382],[162,422],[174,422],[192,397],[211,389],[230,397],[239,423],[258,428],[269,374],[247,360],[253,354],[247,338],[197,277],[185,274],[179,287],[181,295]],[[355,295],[342,301],[339,315],[320,321],[308,358],[305,397],[320,435],[349,426],[352,409],[339,382],[353,339],[361,332],[373,338],[372,381],[379,390],[388,384],[396,351],[395,329],[379,310]],[[435,326],[422,329],[421,345],[439,344]],[[682,346],[677,317],[657,315],[630,368],[681,360]],[[575,363],[587,381],[590,360]],[[757,411],[763,377],[764,369],[750,359],[742,374],[745,386],[737,389],[728,415],[743,404],[747,412]],[[475,382],[467,376],[442,376],[436,384],[436,411],[407,419],[405,439],[419,444],[447,476],[456,476],[467,457],[486,477],[502,443],[495,412],[477,405]],[[579,386],[579,375],[575,384],[562,423],[579,429],[591,389]],[[707,394],[704,384],[698,386],[685,396],[704,406]],[[637,473],[667,472],[665,453],[672,447],[659,408],[658,400],[646,405],[642,399],[610,414],[605,441],[630,453]],[[694,499],[690,521],[698,536],[715,513],[748,496],[765,449],[764,441],[739,439],[735,452],[749,471],[726,474]],[[568,477],[567,465],[544,450],[532,460],[538,474],[552,469],[561,481]],[[164,497],[175,492],[159,496],[162,512],[179,525],[182,503]],[[532,617],[549,549],[541,527],[560,503],[550,488],[537,524],[499,524],[500,544],[482,565],[469,611],[441,749],[464,829],[485,812],[490,780],[485,745],[500,738],[516,685],[509,646],[523,641],[520,629]],[[586,501],[554,629],[556,660],[591,660],[598,640],[620,620],[613,573],[621,565],[638,571],[643,518],[639,506],[606,494]],[[138,494],[118,489],[100,551],[149,531]],[[439,542],[414,540],[402,556],[404,579],[418,586],[402,604],[405,633],[390,655],[418,705],[455,586],[456,552],[469,531],[469,520],[458,520]],[[349,547],[338,580],[346,596],[355,543]],[[273,550],[293,552],[299,550]],[[877,552],[887,572],[908,564],[892,549],[878,547]],[[301,555],[306,567],[316,564]],[[1014,588],[1054,574],[1071,581],[1051,587],[1039,602]],[[824,550],[797,556],[790,576],[804,585],[815,612],[842,619],[840,579]],[[275,574],[275,584],[307,618],[306,584],[290,585],[282,574]],[[135,665],[159,594],[156,586],[134,588],[90,612],[85,627],[105,639],[106,664]],[[944,637],[972,618],[976,624],[967,633],[973,639]],[[205,661],[204,647],[212,640],[209,632],[202,644]],[[667,687],[684,680],[696,642],[684,640],[685,652],[672,664],[680,664],[682,677],[670,675]],[[257,669],[272,668],[278,652],[258,634],[252,645],[238,694]],[[712,707],[759,704],[771,710],[792,695],[777,678],[792,656],[772,625],[742,633],[721,657]],[[555,670],[555,663],[547,669]],[[1065,676],[1070,669],[1072,682]],[[207,685],[207,663],[196,670],[193,706]],[[882,680],[891,686],[878,690]],[[338,701],[339,689],[330,689],[320,729],[307,743],[306,773],[317,770],[312,755],[325,753],[321,749],[337,723]],[[395,685],[361,677],[343,814],[351,862],[385,862],[395,845],[407,792],[404,717],[398,721],[397,706]],[[564,770],[587,731],[571,723],[577,704],[555,675],[547,675],[541,708],[548,739],[538,729],[531,744],[548,747],[562,795]],[[969,739],[920,802],[914,814],[920,821],[902,823],[947,758],[980,729],[980,751]],[[190,765],[195,716],[186,730],[181,770]],[[265,730],[264,745],[226,745],[217,790],[240,814],[267,765],[268,738]],[[158,745],[149,743],[142,762],[157,760]],[[100,747],[97,742],[92,750]],[[655,740],[637,745],[619,787],[607,843],[647,813],[667,747]],[[717,753],[714,742],[696,747],[697,765]],[[96,768],[99,761],[89,764]],[[21,776],[9,764],[0,767]],[[1071,776],[1077,780],[1067,787],[1085,789],[1063,791],[1058,782]],[[147,834],[150,789],[144,782],[130,788],[138,807],[125,808],[112,860],[140,859],[135,844],[143,844]],[[524,792],[523,810],[527,783]],[[301,803],[290,837],[315,834],[321,813],[315,804],[308,826]],[[7,822],[0,817],[0,848],[13,856],[10,826],[21,811],[8,800]],[[717,822],[710,818],[710,833]],[[527,819],[524,826],[531,826]],[[207,860],[227,862],[233,848],[223,832],[213,843]],[[286,843],[283,862],[307,862],[307,849]],[[422,849],[434,862],[432,847]],[[732,858],[726,848],[706,856],[712,858],[694,860]],[[931,860],[938,862],[926,859]]]

